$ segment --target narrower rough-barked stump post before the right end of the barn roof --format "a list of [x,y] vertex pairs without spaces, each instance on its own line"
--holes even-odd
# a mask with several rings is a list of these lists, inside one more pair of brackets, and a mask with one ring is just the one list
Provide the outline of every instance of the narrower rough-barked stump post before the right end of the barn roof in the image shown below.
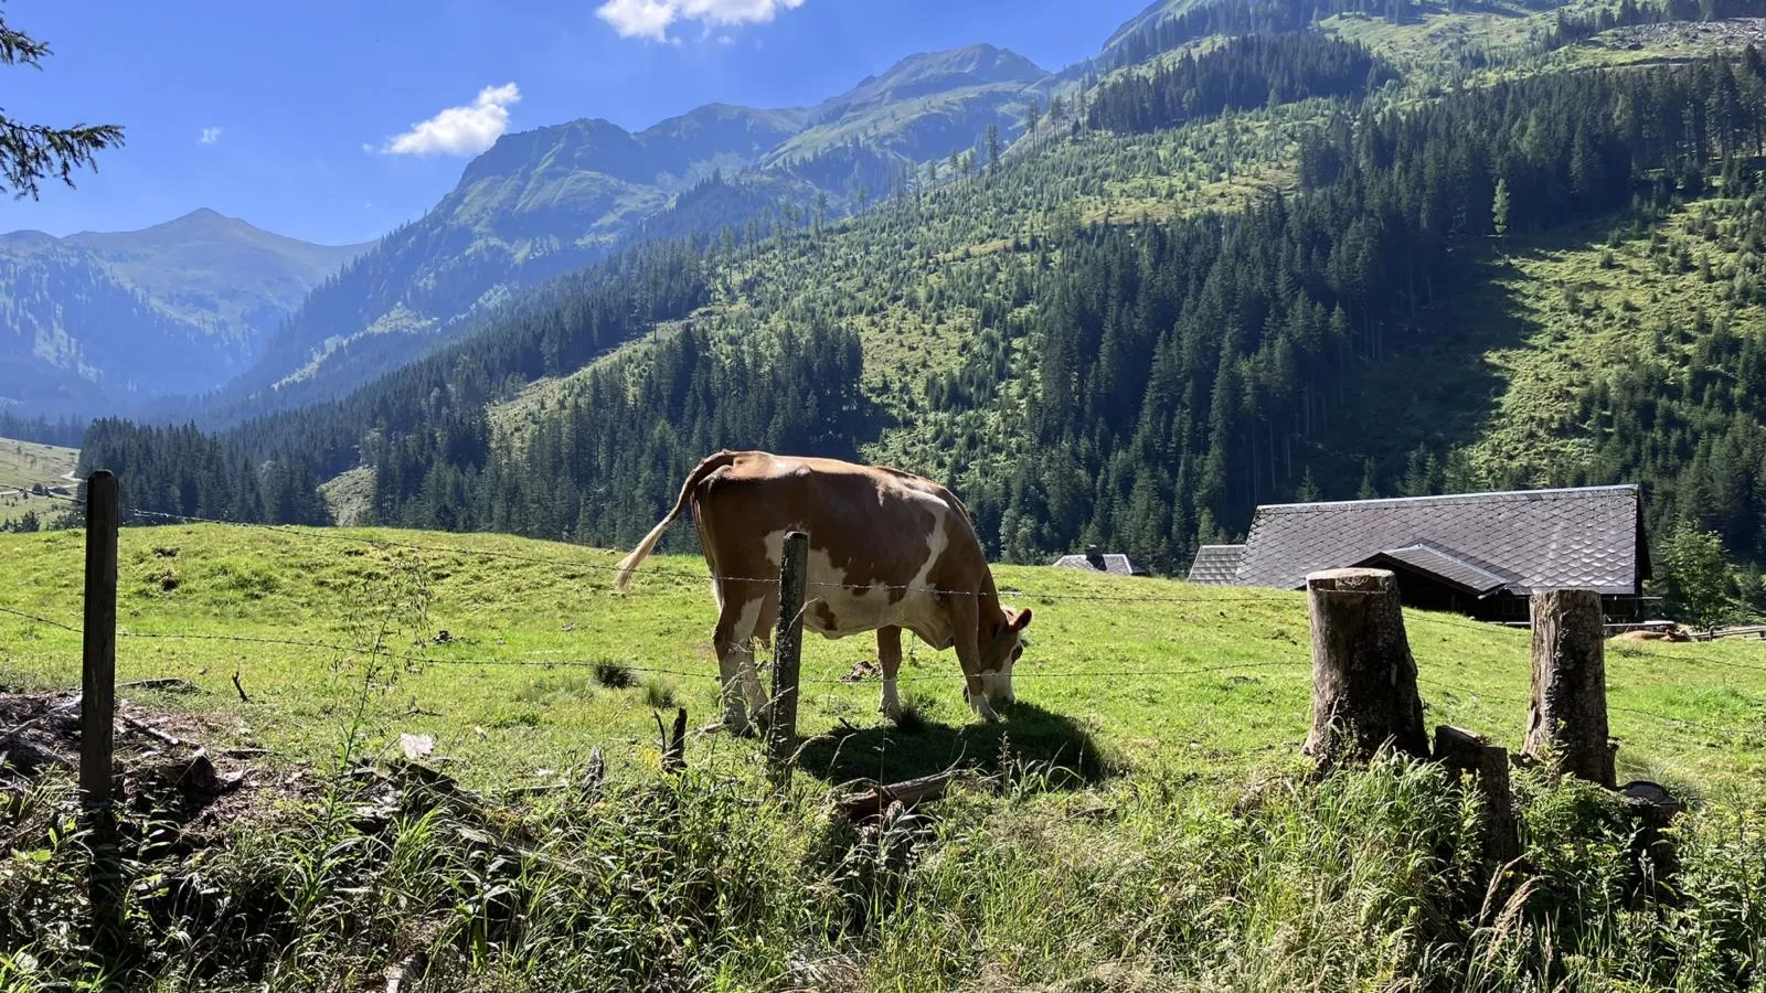
[[1607,739],[1607,656],[1600,594],[1533,594],[1533,698],[1526,751],[1563,772],[1614,786]]

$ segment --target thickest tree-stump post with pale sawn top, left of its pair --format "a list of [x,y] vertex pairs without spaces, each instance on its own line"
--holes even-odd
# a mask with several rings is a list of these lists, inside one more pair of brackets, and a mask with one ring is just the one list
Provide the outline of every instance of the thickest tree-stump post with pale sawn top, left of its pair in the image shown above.
[[1323,765],[1385,747],[1429,758],[1416,659],[1404,636],[1397,578],[1385,569],[1307,576],[1312,613],[1312,733]]

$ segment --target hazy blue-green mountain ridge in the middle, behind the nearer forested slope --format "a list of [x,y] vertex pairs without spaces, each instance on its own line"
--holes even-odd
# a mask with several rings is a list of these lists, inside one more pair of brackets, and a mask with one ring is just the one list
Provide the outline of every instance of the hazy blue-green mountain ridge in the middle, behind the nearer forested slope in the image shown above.
[[577,120],[503,136],[434,210],[320,286],[251,371],[161,413],[223,424],[343,396],[632,240],[826,223],[925,161],[984,154],[989,131],[1008,140],[1047,80],[980,44],[904,58],[814,108],[712,104],[638,134]]

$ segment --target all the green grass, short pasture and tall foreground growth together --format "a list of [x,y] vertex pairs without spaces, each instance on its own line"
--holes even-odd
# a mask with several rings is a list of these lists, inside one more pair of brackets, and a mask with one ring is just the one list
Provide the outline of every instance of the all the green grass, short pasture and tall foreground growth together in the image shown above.
[[[78,624],[81,544],[0,535],[0,606],[46,618],[0,611],[0,687],[78,682],[78,634],[53,622]],[[715,714],[703,562],[652,560],[625,595],[613,562],[491,535],[125,530],[122,696],[217,756],[270,751],[245,760],[251,795],[189,823],[182,779],[166,800],[131,765],[168,749],[131,753],[134,958],[71,926],[69,774],[11,781],[0,988],[1757,988],[1766,645],[1609,652],[1621,777],[1694,800],[1660,891],[1635,822],[1589,786],[1519,770],[1526,857],[1496,868],[1438,767],[1314,777],[1300,594],[1000,569],[1037,610],[1005,723],[973,723],[954,659],[922,647],[904,670],[922,721],[887,724],[874,682],[839,682],[871,643],[814,641],[795,788],[722,733],[664,776],[653,714]],[[1429,721],[1517,744],[1526,634],[1408,627]],[[161,677],[201,693],[127,686]],[[350,772],[401,733],[433,735],[424,762],[477,793]],[[606,785],[514,790],[576,783],[597,746]],[[855,827],[826,802],[837,781],[959,763],[984,779],[918,813]]]

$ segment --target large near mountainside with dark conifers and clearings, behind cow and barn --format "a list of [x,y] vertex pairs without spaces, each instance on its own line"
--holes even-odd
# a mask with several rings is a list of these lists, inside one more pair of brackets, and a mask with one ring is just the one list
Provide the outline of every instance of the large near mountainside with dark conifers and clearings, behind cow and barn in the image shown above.
[[1441,92],[1332,32],[1160,55],[860,216],[627,249],[208,443],[369,466],[385,523],[615,546],[715,447],[857,452],[1000,557],[1160,571],[1264,502],[1635,481],[1658,535],[1762,562],[1766,69],[1607,69],[1637,49],[1551,48],[1579,9],[1513,16]]

